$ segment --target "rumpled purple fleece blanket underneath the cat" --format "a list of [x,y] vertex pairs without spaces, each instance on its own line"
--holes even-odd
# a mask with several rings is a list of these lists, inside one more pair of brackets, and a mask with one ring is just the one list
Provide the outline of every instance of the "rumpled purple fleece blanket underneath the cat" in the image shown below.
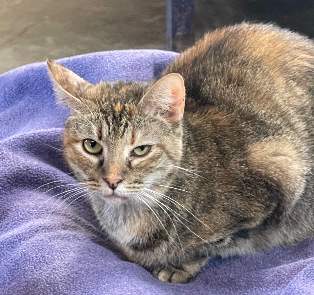
[[[149,80],[176,57],[108,51],[59,60],[91,83]],[[68,110],[55,105],[45,63],[0,76],[0,294],[314,294],[314,240],[208,261],[189,284],[160,282],[108,247],[62,158]]]

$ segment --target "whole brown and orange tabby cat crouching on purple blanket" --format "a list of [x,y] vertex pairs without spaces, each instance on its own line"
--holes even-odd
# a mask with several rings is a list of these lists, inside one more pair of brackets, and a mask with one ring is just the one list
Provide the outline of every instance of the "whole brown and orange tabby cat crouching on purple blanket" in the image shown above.
[[314,45],[271,24],[204,35],[159,80],[93,85],[47,61],[64,157],[128,260],[187,283],[206,261],[314,236]]

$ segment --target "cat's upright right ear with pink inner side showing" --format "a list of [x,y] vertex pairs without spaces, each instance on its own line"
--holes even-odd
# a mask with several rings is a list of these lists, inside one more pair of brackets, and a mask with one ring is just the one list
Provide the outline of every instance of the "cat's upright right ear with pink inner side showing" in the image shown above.
[[185,102],[184,81],[180,74],[172,73],[160,78],[139,102],[141,112],[157,114],[167,121],[178,122],[183,117]]

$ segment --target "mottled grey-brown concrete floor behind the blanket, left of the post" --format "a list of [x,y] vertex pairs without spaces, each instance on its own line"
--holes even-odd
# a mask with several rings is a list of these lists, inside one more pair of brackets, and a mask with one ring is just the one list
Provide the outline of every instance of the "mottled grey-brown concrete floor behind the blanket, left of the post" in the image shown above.
[[137,48],[165,49],[165,0],[0,0],[0,73]]

